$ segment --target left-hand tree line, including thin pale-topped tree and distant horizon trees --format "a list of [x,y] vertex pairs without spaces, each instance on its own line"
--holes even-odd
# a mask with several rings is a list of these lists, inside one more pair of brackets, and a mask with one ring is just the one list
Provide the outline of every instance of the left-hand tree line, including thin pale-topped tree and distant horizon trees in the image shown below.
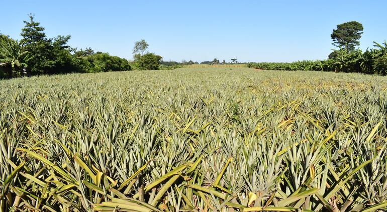
[[[77,49],[68,45],[71,36],[48,38],[45,28],[35,21],[34,15],[24,21],[21,40],[0,33],[0,78],[64,73],[95,73],[127,70],[171,69],[180,65],[199,64],[182,61],[164,62],[160,55],[148,51],[145,40],[135,42],[133,61],[112,56],[106,52],[94,51],[91,48]],[[236,62],[236,59],[232,59]],[[208,61],[218,64],[216,58]],[[223,60],[223,63],[225,61]],[[202,62],[202,64],[206,64]]]

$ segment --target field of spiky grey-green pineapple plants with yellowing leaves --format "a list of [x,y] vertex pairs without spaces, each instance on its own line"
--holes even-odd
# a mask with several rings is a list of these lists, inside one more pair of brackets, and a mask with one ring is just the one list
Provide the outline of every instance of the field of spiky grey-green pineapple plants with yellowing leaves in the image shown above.
[[387,78],[181,68],[0,81],[1,211],[382,211]]

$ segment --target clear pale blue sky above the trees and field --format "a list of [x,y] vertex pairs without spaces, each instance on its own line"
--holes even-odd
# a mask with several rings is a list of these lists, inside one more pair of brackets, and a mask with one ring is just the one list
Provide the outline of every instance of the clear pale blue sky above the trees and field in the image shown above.
[[164,61],[325,59],[337,24],[364,26],[360,48],[387,40],[387,1],[3,1],[0,32],[20,39],[27,14],[72,47],[132,58],[145,39]]

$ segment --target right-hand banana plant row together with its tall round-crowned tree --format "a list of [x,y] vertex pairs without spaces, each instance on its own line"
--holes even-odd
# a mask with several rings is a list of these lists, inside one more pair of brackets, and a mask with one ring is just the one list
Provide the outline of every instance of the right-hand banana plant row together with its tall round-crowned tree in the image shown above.
[[249,63],[251,68],[265,70],[313,70],[334,72],[358,72],[387,75],[387,43],[373,42],[373,48],[364,52],[360,45],[363,25],[356,21],[337,25],[331,38],[334,49],[325,60],[304,60],[291,63]]

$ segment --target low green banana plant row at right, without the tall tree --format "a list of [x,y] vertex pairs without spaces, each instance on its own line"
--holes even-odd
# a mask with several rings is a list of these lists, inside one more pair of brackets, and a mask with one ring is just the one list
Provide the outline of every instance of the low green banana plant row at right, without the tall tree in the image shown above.
[[297,61],[292,63],[249,63],[247,67],[265,70],[313,70],[387,74],[387,43],[375,43],[376,48],[361,50],[336,50],[327,60]]

